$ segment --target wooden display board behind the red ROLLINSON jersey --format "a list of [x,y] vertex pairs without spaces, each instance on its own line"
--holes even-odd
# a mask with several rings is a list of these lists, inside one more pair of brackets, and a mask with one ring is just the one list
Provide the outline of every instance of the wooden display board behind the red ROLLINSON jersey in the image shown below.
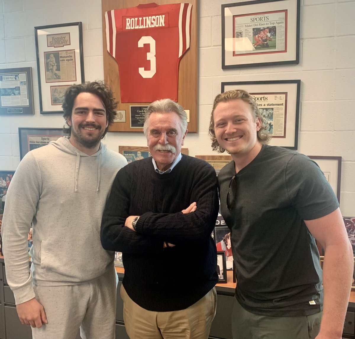
[[[165,4],[180,4],[178,0],[157,0],[154,1],[157,5]],[[150,0],[102,0],[102,27],[103,27],[103,59],[104,59],[104,79],[105,83],[109,84],[116,100],[119,102],[117,107],[117,117],[115,122],[110,126],[110,132],[142,132],[143,131],[143,115],[144,110],[151,102],[122,102],[121,91],[120,91],[120,69],[119,65],[113,56],[109,53],[107,49],[107,34],[106,34],[106,18],[105,12],[114,9],[123,9],[129,7],[136,7],[138,5],[145,6],[150,4]],[[197,88],[198,88],[198,77],[197,77],[197,0],[191,0],[189,3],[192,4],[191,8],[191,27],[190,27],[190,48],[182,55],[179,63],[179,73],[178,73],[178,103],[184,107],[187,113],[187,129],[189,132],[197,132]],[[109,20],[112,18],[108,17]],[[112,21],[111,21],[112,22]],[[110,26],[111,27],[111,26]],[[111,28],[110,28],[111,29]],[[140,31],[147,31],[145,29],[140,29]],[[111,32],[111,31],[109,31]],[[116,32],[115,32],[116,33]],[[139,39],[138,39],[139,40]],[[138,41],[137,40],[137,41]],[[116,40],[113,40],[116,42]],[[155,40],[154,40],[155,41]],[[148,46],[148,43],[145,43]],[[138,48],[138,42],[137,42]],[[145,47],[144,47],[145,48]],[[157,53],[158,45],[156,46]],[[159,47],[161,48],[161,47]],[[163,49],[166,49],[164,46]],[[127,50],[122,47],[124,53],[130,55],[132,51]],[[147,50],[147,53],[149,51]],[[151,52],[149,52],[151,53]],[[158,54],[157,54],[158,55]],[[147,54],[148,56],[148,54]],[[135,56],[136,57],[136,56]],[[155,58],[155,56],[154,56]],[[146,61],[146,60],[145,60]],[[144,65],[144,70],[149,66]],[[138,71],[138,66],[137,66]],[[169,74],[166,74],[169,78]],[[158,98],[157,98],[158,99]],[[138,107],[137,107],[138,106]]]

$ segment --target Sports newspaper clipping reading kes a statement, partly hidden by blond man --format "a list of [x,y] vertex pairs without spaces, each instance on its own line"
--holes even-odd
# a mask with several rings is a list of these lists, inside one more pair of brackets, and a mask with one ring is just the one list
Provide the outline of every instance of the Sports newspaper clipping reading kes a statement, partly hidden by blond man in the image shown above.
[[266,132],[273,138],[286,137],[287,92],[250,93],[259,106],[260,113],[268,125]]

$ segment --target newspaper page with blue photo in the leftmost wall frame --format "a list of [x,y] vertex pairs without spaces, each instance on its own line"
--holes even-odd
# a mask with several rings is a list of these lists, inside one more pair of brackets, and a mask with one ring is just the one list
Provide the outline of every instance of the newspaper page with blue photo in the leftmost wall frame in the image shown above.
[[27,74],[0,76],[1,107],[28,106]]

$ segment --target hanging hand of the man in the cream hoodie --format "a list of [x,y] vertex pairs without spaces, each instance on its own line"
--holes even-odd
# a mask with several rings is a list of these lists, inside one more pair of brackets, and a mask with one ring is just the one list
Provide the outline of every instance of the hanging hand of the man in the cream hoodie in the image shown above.
[[43,324],[48,323],[42,304],[35,298],[16,305],[16,309],[21,324],[40,328]]

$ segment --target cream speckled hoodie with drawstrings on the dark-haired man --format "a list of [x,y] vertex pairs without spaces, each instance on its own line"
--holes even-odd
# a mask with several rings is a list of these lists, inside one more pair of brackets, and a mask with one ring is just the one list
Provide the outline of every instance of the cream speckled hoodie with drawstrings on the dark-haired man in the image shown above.
[[114,252],[100,243],[100,224],[115,175],[126,164],[104,144],[87,155],[65,137],[25,155],[7,191],[1,229],[6,278],[16,304],[35,296],[32,281],[80,284],[113,267]]

